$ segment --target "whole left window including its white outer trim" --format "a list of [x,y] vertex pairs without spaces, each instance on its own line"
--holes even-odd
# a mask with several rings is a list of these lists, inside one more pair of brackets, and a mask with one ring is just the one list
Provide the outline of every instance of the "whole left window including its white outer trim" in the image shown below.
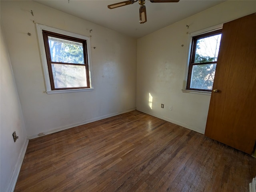
[[91,90],[90,39],[40,24],[37,29],[46,92]]

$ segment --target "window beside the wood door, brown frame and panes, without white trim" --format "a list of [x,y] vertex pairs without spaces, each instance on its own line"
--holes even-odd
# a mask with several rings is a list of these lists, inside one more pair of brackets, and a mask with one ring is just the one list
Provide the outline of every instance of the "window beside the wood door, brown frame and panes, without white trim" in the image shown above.
[[187,90],[212,91],[221,29],[192,37]]

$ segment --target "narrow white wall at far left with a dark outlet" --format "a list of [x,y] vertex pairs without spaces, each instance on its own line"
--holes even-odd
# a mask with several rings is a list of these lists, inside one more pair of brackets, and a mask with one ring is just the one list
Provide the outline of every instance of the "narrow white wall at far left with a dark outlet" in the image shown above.
[[16,182],[28,139],[2,26],[0,34],[0,191],[7,192]]

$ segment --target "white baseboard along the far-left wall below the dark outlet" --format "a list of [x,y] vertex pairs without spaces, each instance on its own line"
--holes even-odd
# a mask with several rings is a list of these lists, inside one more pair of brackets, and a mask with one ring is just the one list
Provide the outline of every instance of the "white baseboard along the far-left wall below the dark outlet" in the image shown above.
[[23,144],[23,146],[20,150],[20,154],[19,154],[17,163],[15,165],[15,168],[12,172],[12,177],[11,177],[10,182],[8,184],[8,188],[7,188],[8,190],[7,191],[10,191],[10,192],[14,191],[14,188],[15,188],[15,185],[16,185],[16,182],[18,180],[19,173],[20,173],[20,168],[22,166],[22,162],[23,162],[24,157],[25,157],[27,147],[28,147],[28,138],[26,138],[26,141],[25,141],[25,143]]

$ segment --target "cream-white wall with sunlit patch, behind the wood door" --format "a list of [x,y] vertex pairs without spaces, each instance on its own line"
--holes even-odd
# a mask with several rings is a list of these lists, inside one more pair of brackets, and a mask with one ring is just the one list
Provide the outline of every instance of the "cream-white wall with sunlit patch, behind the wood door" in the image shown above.
[[[226,1],[138,39],[137,110],[204,133],[210,96],[182,92],[188,63],[187,32],[254,12],[256,1]],[[186,25],[189,25],[189,29]],[[149,106],[149,93],[152,96],[152,109]],[[165,105],[164,109],[161,103]],[[169,106],[173,106],[172,111],[168,109]]]

